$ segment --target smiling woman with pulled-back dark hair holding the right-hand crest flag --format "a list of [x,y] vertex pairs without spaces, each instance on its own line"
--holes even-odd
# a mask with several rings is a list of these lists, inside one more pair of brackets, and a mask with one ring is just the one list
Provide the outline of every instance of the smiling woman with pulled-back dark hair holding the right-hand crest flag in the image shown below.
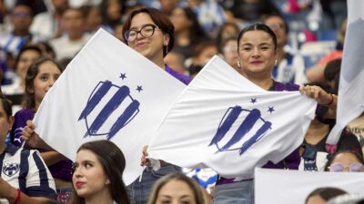
[[[267,91],[300,91],[329,106],[332,116],[336,110],[337,96],[323,91],[319,86],[299,87],[296,84],[278,83],[272,79],[277,65],[277,37],[266,24],[251,24],[238,35],[238,73]],[[277,164],[268,162],[263,168],[298,170],[298,150]],[[237,180],[218,177],[214,203],[254,203],[254,178]]]

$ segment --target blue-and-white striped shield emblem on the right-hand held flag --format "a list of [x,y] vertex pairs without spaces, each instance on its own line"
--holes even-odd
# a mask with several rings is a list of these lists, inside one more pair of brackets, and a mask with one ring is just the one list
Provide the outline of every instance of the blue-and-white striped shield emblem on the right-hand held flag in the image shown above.
[[208,146],[216,145],[219,152],[238,151],[242,155],[271,130],[271,125],[261,117],[258,109],[247,110],[238,105],[230,107]]

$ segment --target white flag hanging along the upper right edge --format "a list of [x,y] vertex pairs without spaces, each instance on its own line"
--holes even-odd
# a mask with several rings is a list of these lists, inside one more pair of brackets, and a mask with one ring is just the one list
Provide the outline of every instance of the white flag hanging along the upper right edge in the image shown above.
[[348,1],[348,26],[341,63],[337,123],[327,143],[337,144],[341,131],[364,111],[364,1]]

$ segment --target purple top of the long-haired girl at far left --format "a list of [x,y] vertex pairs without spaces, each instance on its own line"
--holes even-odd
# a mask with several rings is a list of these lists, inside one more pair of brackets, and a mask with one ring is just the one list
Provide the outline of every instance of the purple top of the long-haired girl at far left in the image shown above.
[[[22,146],[23,141],[21,139],[22,131],[26,126],[26,121],[33,120],[35,112],[31,109],[22,109],[15,113],[15,121],[13,129],[11,131],[11,138],[15,146]],[[29,148],[25,144],[25,148]],[[42,149],[37,149],[40,152],[46,152]],[[48,166],[49,171],[51,171],[52,176],[55,179],[72,181],[72,160],[60,160]]]

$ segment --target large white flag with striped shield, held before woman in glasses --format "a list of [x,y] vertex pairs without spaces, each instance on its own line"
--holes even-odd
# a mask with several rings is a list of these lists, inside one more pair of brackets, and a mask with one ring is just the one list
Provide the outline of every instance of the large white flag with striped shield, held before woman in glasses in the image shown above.
[[110,140],[124,152],[124,181],[143,168],[143,146],[186,87],[116,37],[99,30],[47,92],[35,132],[74,160],[86,141]]

